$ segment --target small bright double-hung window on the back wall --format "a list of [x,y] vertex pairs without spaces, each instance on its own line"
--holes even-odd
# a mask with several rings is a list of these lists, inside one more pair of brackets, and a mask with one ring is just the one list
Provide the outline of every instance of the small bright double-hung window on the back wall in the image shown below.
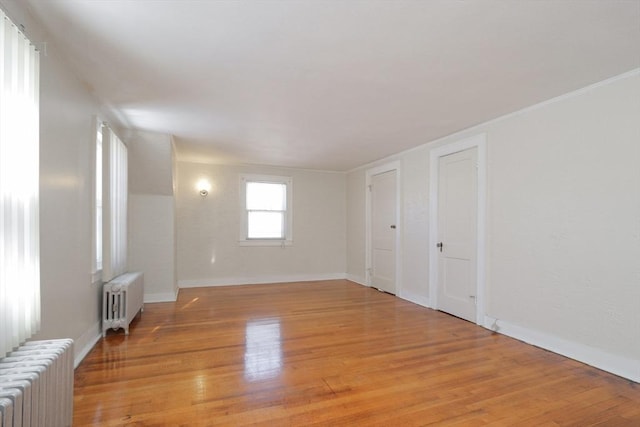
[[243,175],[241,245],[290,245],[292,243],[291,178]]

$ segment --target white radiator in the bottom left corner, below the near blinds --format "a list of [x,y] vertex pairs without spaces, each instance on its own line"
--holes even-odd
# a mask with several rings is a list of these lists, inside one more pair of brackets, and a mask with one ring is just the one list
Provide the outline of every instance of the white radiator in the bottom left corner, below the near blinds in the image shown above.
[[30,341],[0,359],[0,427],[72,421],[73,340]]

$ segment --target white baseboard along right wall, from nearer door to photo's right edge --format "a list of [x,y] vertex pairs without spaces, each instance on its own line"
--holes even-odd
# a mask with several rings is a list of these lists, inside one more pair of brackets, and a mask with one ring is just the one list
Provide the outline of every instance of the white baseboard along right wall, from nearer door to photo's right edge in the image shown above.
[[640,383],[640,361],[485,316],[484,327]]

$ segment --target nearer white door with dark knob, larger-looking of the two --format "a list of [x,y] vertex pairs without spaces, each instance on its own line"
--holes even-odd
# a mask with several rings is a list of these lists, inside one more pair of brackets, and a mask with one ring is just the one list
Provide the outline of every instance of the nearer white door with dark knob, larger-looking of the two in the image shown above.
[[476,322],[477,148],[439,159],[438,309]]

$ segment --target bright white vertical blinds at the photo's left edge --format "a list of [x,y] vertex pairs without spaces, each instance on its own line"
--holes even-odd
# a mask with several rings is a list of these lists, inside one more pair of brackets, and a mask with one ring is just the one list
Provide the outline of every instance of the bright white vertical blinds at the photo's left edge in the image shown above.
[[40,328],[39,64],[0,10],[0,358]]

